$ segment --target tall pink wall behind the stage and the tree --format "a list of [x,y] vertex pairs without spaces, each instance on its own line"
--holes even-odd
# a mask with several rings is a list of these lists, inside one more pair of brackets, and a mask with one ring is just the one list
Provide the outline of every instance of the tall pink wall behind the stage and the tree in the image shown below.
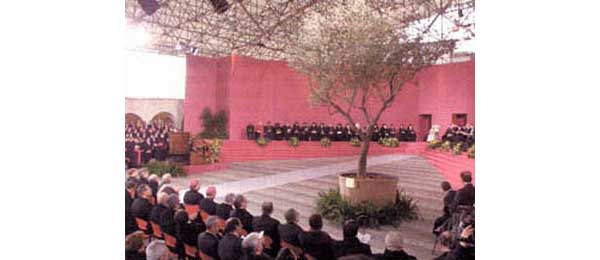
[[[229,112],[231,140],[242,139],[249,122],[345,124],[344,118],[330,116],[324,107],[308,107],[306,84],[306,79],[285,62],[239,56],[222,59],[188,56],[184,131],[195,134],[201,130],[198,118],[205,106]],[[432,122],[440,124],[445,122],[442,118],[448,117],[449,122],[452,113],[462,111],[467,111],[469,122],[473,122],[473,62],[431,68],[419,75],[418,85],[405,86],[380,122],[396,126],[411,123],[417,128],[419,114],[432,114]],[[452,94],[445,94],[448,92]],[[353,116],[362,118],[358,112]],[[364,120],[358,121],[364,124]]]

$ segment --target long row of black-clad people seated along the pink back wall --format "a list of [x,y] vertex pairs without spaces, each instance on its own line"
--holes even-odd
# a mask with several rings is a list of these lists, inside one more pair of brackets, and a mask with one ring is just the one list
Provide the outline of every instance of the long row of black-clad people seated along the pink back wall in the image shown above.
[[[403,124],[400,124],[399,128],[396,128],[394,124],[389,127],[386,124],[378,126],[373,125],[373,132],[371,134],[371,141],[377,142],[381,138],[396,137],[402,142],[414,142],[417,139],[417,134],[412,126],[409,124],[406,128]],[[360,127],[360,124],[356,124],[358,131],[355,131],[350,124],[342,126],[338,123],[336,126],[333,124],[325,125],[325,123],[313,122],[308,125],[307,122],[300,125],[295,122],[293,125],[284,123],[280,124],[276,122],[271,125],[271,122],[267,122],[263,126],[262,123],[258,123],[256,126],[252,123],[246,126],[246,138],[248,140],[255,140],[259,137],[264,137],[269,140],[288,140],[290,137],[295,136],[300,141],[320,141],[321,138],[327,137],[331,141],[350,141],[351,138],[361,138],[361,133],[367,132],[367,126]]]

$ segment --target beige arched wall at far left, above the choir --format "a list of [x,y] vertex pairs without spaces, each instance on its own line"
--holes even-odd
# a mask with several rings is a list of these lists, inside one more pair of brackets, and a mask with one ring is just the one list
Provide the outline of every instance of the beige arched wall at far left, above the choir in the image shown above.
[[174,98],[125,98],[125,113],[136,114],[148,123],[160,112],[173,116],[175,127],[183,126],[183,99]]

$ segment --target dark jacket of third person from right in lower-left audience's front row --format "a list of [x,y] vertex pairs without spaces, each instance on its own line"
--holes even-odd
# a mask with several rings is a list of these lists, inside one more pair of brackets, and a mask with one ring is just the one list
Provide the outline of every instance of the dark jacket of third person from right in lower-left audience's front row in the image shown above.
[[298,235],[304,252],[317,260],[335,259],[333,254],[333,239],[323,231],[307,231]]

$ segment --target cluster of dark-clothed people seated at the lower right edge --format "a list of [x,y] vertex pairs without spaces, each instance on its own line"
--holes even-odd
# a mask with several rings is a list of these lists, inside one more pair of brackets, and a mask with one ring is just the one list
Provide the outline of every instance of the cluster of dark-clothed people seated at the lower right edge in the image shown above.
[[434,221],[432,231],[444,252],[439,259],[475,259],[475,186],[471,172],[463,171],[460,177],[459,190],[447,181],[441,183],[443,215]]

